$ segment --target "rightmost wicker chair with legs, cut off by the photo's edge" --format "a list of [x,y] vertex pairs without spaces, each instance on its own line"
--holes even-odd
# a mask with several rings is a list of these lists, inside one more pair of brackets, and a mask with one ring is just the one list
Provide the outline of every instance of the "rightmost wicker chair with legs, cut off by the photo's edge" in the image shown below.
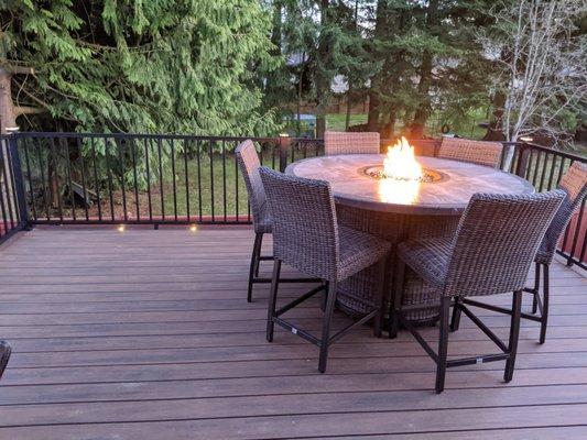
[[[542,344],[546,340],[546,327],[548,324],[548,268],[556,252],[556,244],[561,234],[568,224],[570,218],[575,210],[581,205],[583,200],[587,195],[587,163],[574,162],[570,165],[570,168],[564,174],[558,188],[564,190],[566,194],[565,200],[561,208],[556,212],[551,226],[546,230],[546,234],[542,240],[542,243],[534,258],[535,272],[534,272],[534,287],[524,288],[525,292],[529,292],[533,295],[532,301],[532,315],[522,314],[522,318],[530,319],[532,321],[540,322],[540,339],[539,342]],[[540,282],[541,282],[541,268],[543,276],[543,286],[542,286],[542,298],[540,295]],[[511,310],[497,307],[492,305],[487,305],[478,301],[475,302],[477,307],[485,309],[511,314]],[[540,309],[540,315],[535,315]],[[458,309],[456,311],[456,327],[458,328]]]

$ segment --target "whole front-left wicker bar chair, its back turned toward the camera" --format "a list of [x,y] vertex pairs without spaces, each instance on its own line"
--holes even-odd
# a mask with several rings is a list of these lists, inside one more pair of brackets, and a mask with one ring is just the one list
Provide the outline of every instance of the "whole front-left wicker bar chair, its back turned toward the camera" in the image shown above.
[[[260,168],[273,219],[273,280],[269,301],[267,340],[273,340],[274,324],[319,346],[318,371],[326,371],[328,348],[357,326],[374,318],[374,333],[381,333],[383,277],[391,245],[379,238],[349,228],[338,227],[330,186],[327,182],[286,176],[273,169]],[[324,283],[275,310],[281,264],[315,277]],[[337,283],[363,268],[377,264],[380,286],[377,299],[369,301],[368,311],[354,323],[330,336],[336,302]],[[281,316],[298,304],[324,292],[322,338],[295,327]]]

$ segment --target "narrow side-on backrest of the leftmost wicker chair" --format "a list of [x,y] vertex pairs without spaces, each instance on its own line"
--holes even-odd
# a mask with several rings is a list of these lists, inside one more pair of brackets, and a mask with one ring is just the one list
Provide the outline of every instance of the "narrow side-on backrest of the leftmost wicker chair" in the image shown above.
[[239,144],[235,153],[240,172],[242,173],[242,178],[244,179],[244,185],[247,185],[247,191],[249,193],[253,222],[257,223],[261,220],[261,212],[267,202],[265,190],[259,176],[259,168],[261,167],[259,155],[250,139]]

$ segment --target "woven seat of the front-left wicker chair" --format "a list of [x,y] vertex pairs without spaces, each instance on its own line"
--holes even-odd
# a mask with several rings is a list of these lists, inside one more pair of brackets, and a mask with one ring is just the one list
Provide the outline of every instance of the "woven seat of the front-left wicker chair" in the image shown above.
[[385,240],[341,226],[338,227],[338,280],[371,266],[391,250],[391,244]]

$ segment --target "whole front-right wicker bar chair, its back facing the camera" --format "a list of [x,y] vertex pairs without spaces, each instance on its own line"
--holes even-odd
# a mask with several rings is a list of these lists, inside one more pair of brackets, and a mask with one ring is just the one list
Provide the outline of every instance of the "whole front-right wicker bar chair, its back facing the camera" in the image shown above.
[[[465,210],[454,238],[422,239],[398,246],[395,295],[390,310],[390,337],[403,324],[436,362],[436,393],[444,389],[446,369],[507,360],[504,381],[513,377],[522,290],[540,243],[565,197],[562,190],[532,195],[476,194]],[[401,306],[403,274],[409,265],[438,289],[441,336],[438,352],[426,343],[404,314],[435,306]],[[513,292],[510,339],[506,344],[467,308],[470,296]],[[449,307],[465,312],[503,353],[447,360]]]

